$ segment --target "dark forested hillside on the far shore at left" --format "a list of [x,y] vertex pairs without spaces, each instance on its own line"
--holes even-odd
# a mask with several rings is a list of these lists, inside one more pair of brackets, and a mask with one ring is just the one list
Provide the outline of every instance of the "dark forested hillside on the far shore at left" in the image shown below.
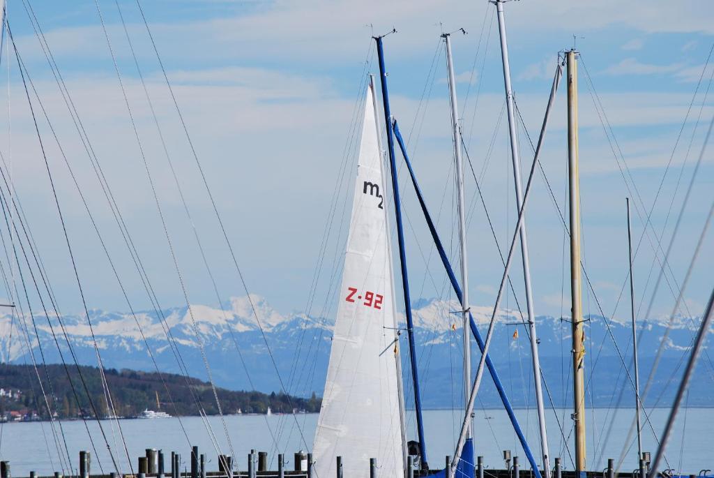
[[[80,377],[81,372],[81,377]],[[38,379],[38,373],[41,377]],[[69,374],[69,377],[68,377]],[[136,417],[144,409],[156,410],[159,394],[161,410],[172,415],[195,415],[200,406],[206,414],[218,414],[211,384],[177,374],[106,369],[116,414]],[[45,396],[53,414],[60,418],[109,416],[101,374],[96,367],[62,365],[0,365],[0,417],[8,420],[49,418]],[[42,390],[44,389],[44,394]],[[317,412],[320,400],[302,399],[285,394],[216,389],[223,413]],[[91,397],[91,401],[89,399]]]

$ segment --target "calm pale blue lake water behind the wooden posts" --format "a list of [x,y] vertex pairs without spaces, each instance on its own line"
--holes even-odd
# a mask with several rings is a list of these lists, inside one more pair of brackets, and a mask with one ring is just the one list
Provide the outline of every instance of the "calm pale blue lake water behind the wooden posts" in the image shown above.
[[[634,412],[631,409],[620,409],[615,420],[610,439],[604,443],[605,432],[603,429],[610,423],[612,411],[605,409],[595,409],[588,412],[588,469],[603,469],[608,458],[618,459],[620,452],[625,448],[624,441],[630,427]],[[655,409],[650,414],[652,427],[657,434],[663,427],[668,414],[667,409]],[[516,412],[518,420],[526,430],[528,441],[531,443],[533,453],[538,456],[538,432],[536,415],[533,410],[518,410]],[[312,443],[313,433],[317,422],[316,414],[298,415],[296,418],[291,415],[271,417],[231,415],[226,416],[226,428],[231,437],[233,452],[228,447],[226,432],[219,417],[208,418],[208,423],[221,452],[234,454],[239,457],[238,464],[245,468],[247,454],[250,449],[268,451],[270,459],[274,459],[273,454],[284,452],[288,467],[292,466],[292,454],[300,449],[308,449]],[[564,434],[568,437],[568,444],[572,449],[572,434],[570,411],[560,410],[558,420],[565,424]],[[453,454],[455,437],[460,427],[459,414],[451,410],[431,410],[425,412],[425,427],[427,435],[427,445],[429,459],[433,467],[441,464],[447,454]],[[112,425],[114,424],[114,427]],[[216,446],[209,438],[206,425],[200,417],[187,417],[181,419],[128,419],[120,420],[121,431],[126,439],[129,455],[136,470],[136,458],[144,454],[147,447],[164,449],[165,452],[177,450],[181,453],[185,462],[190,457],[189,440],[191,444],[198,445],[201,453],[205,453],[209,458],[208,470],[218,468],[216,459]],[[184,434],[183,429],[186,430]],[[595,424],[595,426],[593,426]],[[104,472],[113,471],[109,453],[106,451],[106,444],[99,432],[96,422],[88,422],[91,436],[99,452],[92,455],[92,472],[101,471],[101,463]],[[116,422],[102,422],[111,448],[122,450],[121,437],[116,429]],[[299,427],[298,427],[299,425]],[[59,425],[58,425],[59,426]],[[72,466],[77,466],[79,451],[82,449],[91,451],[91,443],[84,428],[83,422],[62,422],[64,437],[72,459]],[[268,426],[271,431],[268,431]],[[413,429],[413,419],[410,428]],[[476,454],[483,455],[484,462],[489,468],[503,467],[501,460],[502,450],[511,449],[513,455],[521,457],[521,463],[525,463],[525,455],[518,446],[515,434],[508,421],[508,416],[501,410],[486,410],[477,412],[475,419],[476,430]],[[680,414],[675,434],[668,447],[668,460],[670,467],[681,467],[685,473],[697,474],[700,469],[714,468],[713,437],[714,431],[714,409],[688,409]],[[272,432],[272,434],[271,434]],[[563,447],[563,436],[560,434],[558,422],[553,412],[548,414],[548,441],[550,442],[551,457],[563,457],[563,464],[566,469],[572,469],[572,463],[568,457],[568,452]],[[410,434],[410,437],[413,433]],[[274,438],[273,438],[274,437]],[[275,442],[278,442],[279,451],[276,452]],[[306,447],[305,443],[308,444]],[[643,433],[643,448],[645,451],[655,452],[655,439],[649,427],[645,427]],[[49,444],[49,446],[48,446]],[[603,448],[600,457],[600,449]],[[48,449],[51,452],[48,452]],[[64,446],[63,446],[64,449]],[[635,458],[637,450],[636,444],[630,451],[623,464],[623,471],[630,471],[635,468]],[[126,456],[117,459],[121,463],[121,471],[129,472]],[[9,423],[2,426],[2,439],[0,442],[0,457],[9,460],[12,473],[15,477],[27,477],[30,470],[41,474],[49,474],[56,470],[61,471],[62,467],[57,456],[56,446],[49,423]],[[598,457],[598,462],[594,462]],[[66,461],[66,459],[65,459]],[[168,460],[167,460],[168,461]],[[273,462],[273,466],[275,464]],[[523,467],[526,467],[525,465]],[[66,470],[68,471],[68,470]]]

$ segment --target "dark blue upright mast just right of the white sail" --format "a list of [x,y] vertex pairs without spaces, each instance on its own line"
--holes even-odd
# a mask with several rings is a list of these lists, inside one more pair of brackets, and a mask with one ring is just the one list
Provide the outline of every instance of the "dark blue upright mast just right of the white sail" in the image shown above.
[[379,58],[379,79],[382,86],[382,104],[384,109],[384,124],[387,129],[387,151],[389,153],[389,166],[392,177],[392,194],[394,196],[394,214],[397,223],[397,238],[399,244],[399,265],[401,267],[402,289],[404,291],[404,308],[406,309],[407,337],[409,339],[409,361],[411,363],[411,380],[414,387],[414,406],[416,407],[416,427],[419,437],[419,454],[421,454],[421,468],[428,469],[426,459],[426,444],[424,442],[424,424],[421,416],[421,392],[419,391],[419,374],[416,367],[416,348],[414,347],[414,325],[411,316],[411,297],[409,296],[409,279],[406,269],[406,251],[404,249],[404,227],[401,219],[401,204],[399,201],[399,182],[397,167],[394,159],[394,138],[392,136],[392,119],[389,110],[389,94],[387,91],[387,74],[384,69],[384,50],[382,48],[383,36],[375,36],[377,42],[377,56]]

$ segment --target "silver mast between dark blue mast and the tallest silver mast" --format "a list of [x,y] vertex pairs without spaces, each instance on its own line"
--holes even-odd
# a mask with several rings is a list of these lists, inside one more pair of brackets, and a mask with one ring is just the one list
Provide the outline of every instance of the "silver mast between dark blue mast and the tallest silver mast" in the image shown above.
[[[441,35],[446,43],[446,69],[448,70],[448,91],[451,99],[451,124],[453,126],[453,154],[456,159],[456,189],[458,197],[458,232],[461,242],[461,314],[463,319],[463,406],[468,413],[468,396],[471,391],[471,330],[469,329],[468,309],[468,261],[466,255],[466,206],[463,197],[463,161],[461,159],[461,131],[458,125],[458,105],[456,104],[456,80],[453,74],[451,57],[451,34]],[[471,422],[471,421],[470,421]],[[471,438],[471,423],[468,425],[466,438]]]

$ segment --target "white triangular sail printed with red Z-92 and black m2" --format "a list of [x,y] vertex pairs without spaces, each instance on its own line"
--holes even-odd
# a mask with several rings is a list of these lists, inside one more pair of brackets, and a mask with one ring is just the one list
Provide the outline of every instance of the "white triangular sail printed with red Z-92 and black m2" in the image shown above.
[[[370,86],[371,88],[371,86]],[[371,91],[370,91],[371,92]],[[368,93],[370,93],[368,92]],[[367,96],[330,362],[313,446],[317,478],[403,476],[398,344],[376,111]]]

